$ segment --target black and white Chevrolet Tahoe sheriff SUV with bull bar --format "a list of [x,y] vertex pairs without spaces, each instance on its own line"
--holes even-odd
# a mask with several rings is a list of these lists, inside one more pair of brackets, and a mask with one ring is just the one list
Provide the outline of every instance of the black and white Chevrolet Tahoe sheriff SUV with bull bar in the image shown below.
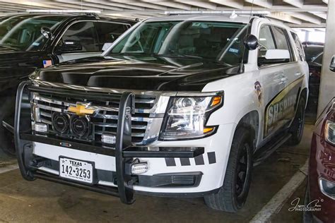
[[41,69],[20,85],[20,171],[128,204],[134,193],[204,197],[236,212],[253,165],[301,140],[303,58],[297,35],[268,18],[144,20],[101,57]]

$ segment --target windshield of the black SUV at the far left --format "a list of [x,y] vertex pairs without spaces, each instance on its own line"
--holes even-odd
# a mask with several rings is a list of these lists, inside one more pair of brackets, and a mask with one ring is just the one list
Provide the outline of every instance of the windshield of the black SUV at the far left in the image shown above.
[[64,16],[11,16],[0,20],[0,47],[20,51],[36,51],[44,47],[47,38],[41,28],[54,30]]

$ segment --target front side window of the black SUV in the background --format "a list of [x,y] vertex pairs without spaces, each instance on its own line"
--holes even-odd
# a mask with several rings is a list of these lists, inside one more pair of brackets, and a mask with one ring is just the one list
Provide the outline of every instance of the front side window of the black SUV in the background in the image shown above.
[[78,22],[69,27],[57,46],[61,52],[99,52],[93,22]]

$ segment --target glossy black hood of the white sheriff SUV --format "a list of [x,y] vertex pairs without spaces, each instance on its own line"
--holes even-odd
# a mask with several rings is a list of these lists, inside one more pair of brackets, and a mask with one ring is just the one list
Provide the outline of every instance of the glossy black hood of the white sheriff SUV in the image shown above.
[[33,79],[98,88],[201,91],[214,80],[235,75],[238,66],[204,59],[171,57],[93,57],[43,68]]

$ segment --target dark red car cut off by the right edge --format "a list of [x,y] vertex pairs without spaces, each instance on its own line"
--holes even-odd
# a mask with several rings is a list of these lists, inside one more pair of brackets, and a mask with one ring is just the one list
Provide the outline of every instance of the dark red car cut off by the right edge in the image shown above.
[[[335,57],[329,69],[335,72]],[[335,221],[335,97],[317,119],[310,150],[304,222]],[[319,206],[319,208],[315,208]]]

